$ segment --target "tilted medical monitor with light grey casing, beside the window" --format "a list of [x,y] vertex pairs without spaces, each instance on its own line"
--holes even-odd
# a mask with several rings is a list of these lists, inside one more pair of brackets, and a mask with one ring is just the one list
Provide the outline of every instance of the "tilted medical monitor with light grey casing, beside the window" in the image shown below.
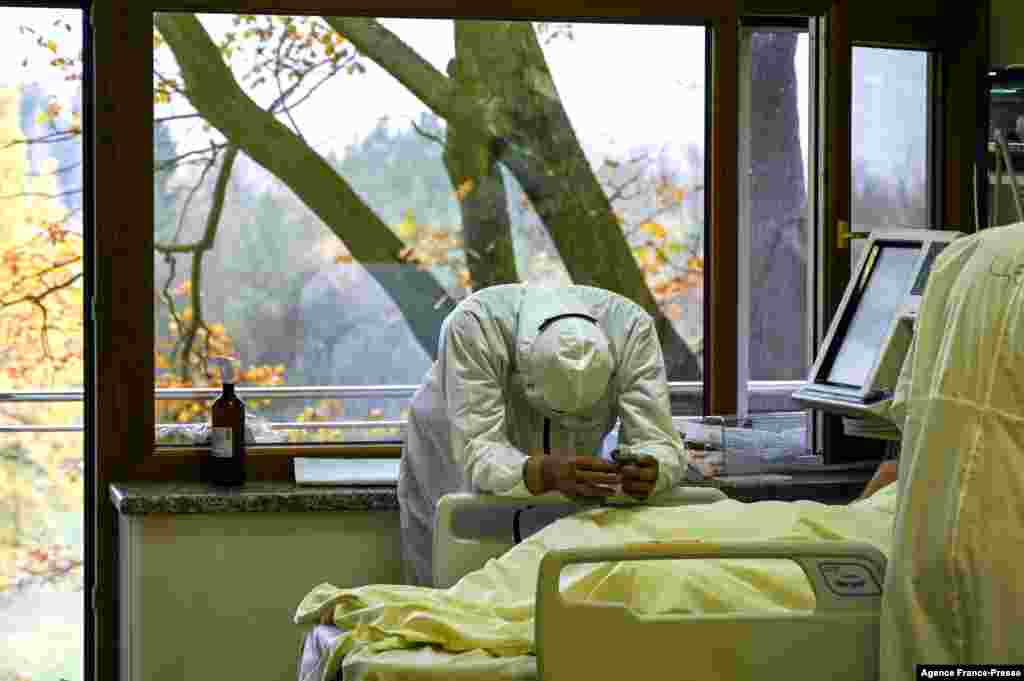
[[847,434],[899,439],[887,418],[935,257],[961,232],[872,231],[811,368],[793,393],[801,405],[846,417]]

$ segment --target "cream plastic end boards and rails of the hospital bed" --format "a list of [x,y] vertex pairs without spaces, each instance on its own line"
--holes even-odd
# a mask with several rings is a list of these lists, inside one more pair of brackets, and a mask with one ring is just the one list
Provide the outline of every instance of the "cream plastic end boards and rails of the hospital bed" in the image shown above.
[[[677,487],[647,504],[707,504],[724,498],[713,487]],[[459,536],[455,518],[461,511],[565,503],[559,495],[526,500],[472,494],[443,497],[434,531],[435,586],[451,586],[511,548],[494,538]],[[634,503],[628,498],[607,502]],[[562,570],[573,563],[719,558],[794,560],[807,574],[815,609],[784,615],[648,616],[618,604],[570,601],[559,590]],[[852,542],[671,542],[550,551],[541,562],[537,586],[537,678],[739,681],[771,678],[769,670],[774,669],[795,680],[874,679],[885,566],[877,548]],[[638,666],[637,661],[643,662]]]

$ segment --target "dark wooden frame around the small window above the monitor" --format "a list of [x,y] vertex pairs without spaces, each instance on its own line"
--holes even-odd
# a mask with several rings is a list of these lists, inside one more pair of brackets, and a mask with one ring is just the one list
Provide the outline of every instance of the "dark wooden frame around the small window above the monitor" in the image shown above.
[[[838,0],[827,26],[831,34],[826,83],[827,125],[825,139],[831,144],[825,207],[821,220],[821,252],[818,266],[818,316],[815,345],[821,342],[850,279],[849,251],[841,249],[837,223],[851,224],[851,128],[853,46],[927,49],[934,68],[929,70],[930,102],[929,151],[932,154],[932,197],[930,212],[935,228],[967,233],[974,231],[973,187],[985,172],[987,107],[980,90],[988,67],[989,0],[950,7],[935,0],[906,0],[898,6],[883,0]],[[898,13],[897,13],[898,12]],[[885,16],[885,20],[880,20]],[[845,55],[844,55],[845,53]],[[839,134],[845,130],[847,134]],[[975,130],[973,137],[965,130]],[[984,184],[979,184],[984,186]],[[984,217],[986,197],[978,212]],[[985,224],[982,222],[982,224]],[[843,433],[842,419],[818,412],[815,418],[815,448],[825,453],[825,463],[882,458],[886,443],[850,438]]]

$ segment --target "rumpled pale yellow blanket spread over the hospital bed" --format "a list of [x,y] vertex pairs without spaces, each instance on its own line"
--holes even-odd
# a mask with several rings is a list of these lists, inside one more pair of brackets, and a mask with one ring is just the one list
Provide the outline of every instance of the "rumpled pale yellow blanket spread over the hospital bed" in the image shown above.
[[[302,599],[296,624],[348,630],[329,665],[349,653],[429,646],[471,656],[534,652],[534,599],[541,558],[552,549],[678,540],[859,541],[887,557],[896,509],[890,484],[846,506],[815,502],[720,501],[670,508],[590,509],[562,518],[446,590],[403,585],[339,589],[322,584]],[[561,577],[566,598],[655,612],[794,610],[814,607],[803,570],[788,560],[657,560],[579,564]],[[325,670],[327,671],[327,670]]]

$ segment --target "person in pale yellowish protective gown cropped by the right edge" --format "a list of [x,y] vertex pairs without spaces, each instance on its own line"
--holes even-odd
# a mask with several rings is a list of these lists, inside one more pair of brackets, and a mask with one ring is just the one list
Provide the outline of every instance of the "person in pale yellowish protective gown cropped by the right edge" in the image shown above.
[[1024,223],[936,259],[893,415],[902,448],[881,678],[1024,663]]

